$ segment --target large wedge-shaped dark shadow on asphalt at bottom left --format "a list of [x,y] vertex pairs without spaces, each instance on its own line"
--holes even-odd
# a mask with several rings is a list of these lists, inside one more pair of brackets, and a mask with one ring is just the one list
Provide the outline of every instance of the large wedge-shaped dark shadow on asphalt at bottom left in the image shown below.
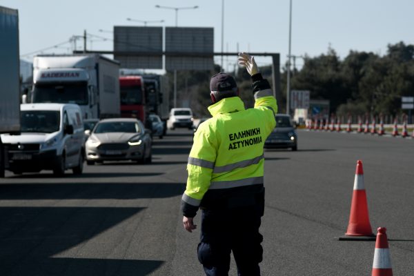
[[[106,231],[141,210],[1,207],[0,275],[148,275],[163,262],[93,258],[100,250],[119,246],[124,235],[108,239]],[[94,244],[95,250],[82,243]],[[59,253],[70,256],[53,257]]]

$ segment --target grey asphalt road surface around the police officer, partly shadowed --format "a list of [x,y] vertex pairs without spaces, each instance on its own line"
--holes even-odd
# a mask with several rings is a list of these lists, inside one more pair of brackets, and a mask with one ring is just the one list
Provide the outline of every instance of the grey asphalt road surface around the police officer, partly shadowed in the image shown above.
[[[262,275],[371,274],[375,242],[337,239],[357,159],[373,231],[387,228],[393,273],[413,275],[414,139],[298,132],[297,152],[265,151]],[[151,165],[86,166],[63,178],[7,172],[0,275],[204,275],[199,230],[187,233],[179,212],[191,142],[188,130],[155,139]]]

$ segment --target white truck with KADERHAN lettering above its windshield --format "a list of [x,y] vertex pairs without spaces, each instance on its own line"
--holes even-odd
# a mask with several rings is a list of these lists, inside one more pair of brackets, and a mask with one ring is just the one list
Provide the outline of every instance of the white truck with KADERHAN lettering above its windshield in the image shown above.
[[120,117],[119,62],[98,54],[33,59],[32,103],[77,103],[83,119]]

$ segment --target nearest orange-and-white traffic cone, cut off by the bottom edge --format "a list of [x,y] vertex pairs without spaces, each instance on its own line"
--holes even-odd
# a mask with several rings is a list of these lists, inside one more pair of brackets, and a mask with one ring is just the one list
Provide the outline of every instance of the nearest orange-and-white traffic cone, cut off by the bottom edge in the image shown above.
[[380,227],[377,230],[378,233],[377,241],[375,242],[373,273],[371,276],[393,276],[388,239],[386,238],[386,228]]

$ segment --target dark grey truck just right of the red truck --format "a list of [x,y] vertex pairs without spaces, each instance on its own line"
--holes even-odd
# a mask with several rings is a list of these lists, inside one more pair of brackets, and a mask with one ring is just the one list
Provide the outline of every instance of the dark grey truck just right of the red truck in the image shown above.
[[170,115],[170,89],[165,75],[144,75],[147,112],[158,115],[164,123],[166,135]]

